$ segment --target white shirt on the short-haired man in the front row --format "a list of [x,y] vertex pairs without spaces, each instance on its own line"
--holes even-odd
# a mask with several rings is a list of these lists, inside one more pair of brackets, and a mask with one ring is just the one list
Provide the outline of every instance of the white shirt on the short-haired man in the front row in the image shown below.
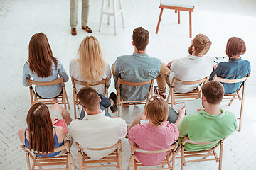
[[115,148],[104,151],[90,151],[86,148],[110,147],[125,137],[127,124],[122,118],[105,116],[105,111],[96,115],[85,115],[83,120],[73,120],[69,125],[70,134],[91,159],[101,159]]

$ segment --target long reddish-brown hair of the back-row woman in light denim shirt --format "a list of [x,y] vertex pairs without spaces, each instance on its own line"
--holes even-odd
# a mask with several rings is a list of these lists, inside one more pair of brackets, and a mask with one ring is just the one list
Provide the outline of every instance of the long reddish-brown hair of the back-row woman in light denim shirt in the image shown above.
[[36,33],[32,36],[28,47],[29,69],[38,77],[48,77],[53,74],[52,65],[57,69],[57,60],[53,57],[50,44],[45,34]]

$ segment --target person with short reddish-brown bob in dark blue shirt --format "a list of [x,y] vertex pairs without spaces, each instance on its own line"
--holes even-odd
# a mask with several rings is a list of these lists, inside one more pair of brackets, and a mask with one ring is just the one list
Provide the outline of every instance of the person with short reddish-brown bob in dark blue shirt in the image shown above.
[[[210,80],[213,79],[215,74],[218,77],[224,79],[240,79],[250,74],[250,62],[242,60],[241,55],[245,54],[246,46],[245,42],[241,38],[232,37],[227,42],[226,54],[230,57],[228,62],[220,62],[213,74],[210,76]],[[225,94],[232,94],[238,91],[240,83],[223,84]]]

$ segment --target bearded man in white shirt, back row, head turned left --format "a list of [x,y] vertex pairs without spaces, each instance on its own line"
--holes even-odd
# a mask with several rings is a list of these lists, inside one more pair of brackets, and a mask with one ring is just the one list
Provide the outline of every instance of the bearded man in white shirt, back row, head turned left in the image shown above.
[[[170,69],[170,84],[173,77],[182,81],[196,81],[203,79],[213,72],[214,62],[212,58],[205,56],[210,49],[211,42],[206,35],[198,34],[192,40],[188,48],[188,55],[172,62]],[[198,85],[174,84],[174,90],[186,93],[195,89]]]

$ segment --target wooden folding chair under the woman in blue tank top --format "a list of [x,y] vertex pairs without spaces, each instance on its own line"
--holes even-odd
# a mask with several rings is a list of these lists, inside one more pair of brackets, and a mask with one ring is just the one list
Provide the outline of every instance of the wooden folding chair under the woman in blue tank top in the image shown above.
[[[65,169],[65,170],[71,170],[71,162],[73,166],[76,168],[74,159],[72,157],[72,154],[70,153],[70,149],[68,148],[68,144],[65,142],[65,145],[55,148],[54,152],[66,150],[66,154],[56,155],[55,157],[38,157],[36,159],[36,154],[34,154],[33,151],[30,151],[28,147],[25,147],[25,145],[21,145],[21,148],[26,153],[26,161],[28,164],[28,170],[35,169],[35,166],[38,166],[38,169],[44,169],[42,166],[65,166],[64,168],[58,168],[58,169]],[[32,159],[32,168],[30,164],[30,159]],[[71,162],[70,162],[71,160]],[[50,169],[53,169],[50,167]],[[57,169],[57,168],[54,168]]]

